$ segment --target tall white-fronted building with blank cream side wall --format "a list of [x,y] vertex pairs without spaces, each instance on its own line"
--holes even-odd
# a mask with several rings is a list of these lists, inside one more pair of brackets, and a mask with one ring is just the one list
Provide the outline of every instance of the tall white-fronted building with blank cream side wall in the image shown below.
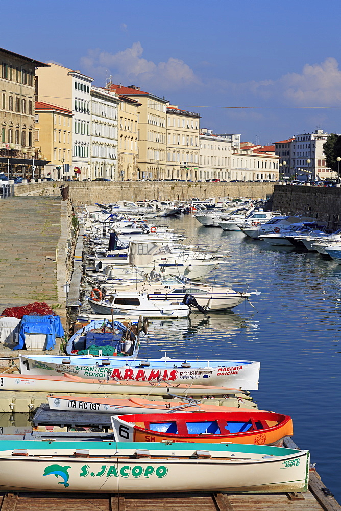
[[[72,162],[70,177],[88,179],[91,155],[91,95],[93,78],[57,64],[37,71],[37,99],[71,110]],[[61,165],[64,165],[61,161]]]

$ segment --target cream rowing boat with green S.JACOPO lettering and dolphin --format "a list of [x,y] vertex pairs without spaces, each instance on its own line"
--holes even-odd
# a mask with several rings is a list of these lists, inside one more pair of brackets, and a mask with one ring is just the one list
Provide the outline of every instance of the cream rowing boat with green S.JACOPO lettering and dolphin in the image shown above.
[[243,444],[7,442],[0,491],[307,491],[309,451]]

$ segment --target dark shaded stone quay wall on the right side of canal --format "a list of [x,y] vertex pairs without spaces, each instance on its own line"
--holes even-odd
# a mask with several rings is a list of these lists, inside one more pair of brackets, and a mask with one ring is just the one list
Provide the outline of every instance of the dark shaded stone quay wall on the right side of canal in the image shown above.
[[300,213],[341,227],[341,188],[275,185],[272,209],[282,213]]

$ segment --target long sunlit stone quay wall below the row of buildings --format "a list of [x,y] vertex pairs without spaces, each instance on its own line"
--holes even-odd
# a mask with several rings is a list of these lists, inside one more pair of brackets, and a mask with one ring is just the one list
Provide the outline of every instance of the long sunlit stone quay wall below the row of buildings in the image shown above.
[[189,200],[192,197],[231,197],[267,199],[274,191],[274,183],[211,183],[211,182],[108,182],[108,181],[47,181],[15,185],[18,196],[60,196],[60,187],[69,187],[74,205],[117,200]]

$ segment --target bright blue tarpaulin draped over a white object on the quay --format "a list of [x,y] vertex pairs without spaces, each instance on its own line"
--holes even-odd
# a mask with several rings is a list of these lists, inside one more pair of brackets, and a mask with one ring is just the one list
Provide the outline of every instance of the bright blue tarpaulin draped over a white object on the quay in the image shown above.
[[45,334],[46,350],[53,350],[56,337],[63,337],[64,329],[59,316],[23,316],[18,335],[18,345],[13,350],[22,350],[25,334]]

